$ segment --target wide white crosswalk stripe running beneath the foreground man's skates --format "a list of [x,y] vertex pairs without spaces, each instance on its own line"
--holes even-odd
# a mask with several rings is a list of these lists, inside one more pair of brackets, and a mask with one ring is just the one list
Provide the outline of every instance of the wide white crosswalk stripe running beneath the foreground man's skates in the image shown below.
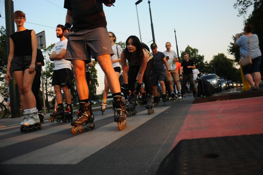
[[[73,138],[15,157],[2,164],[77,164],[168,108],[169,106],[155,108],[151,115],[144,110],[128,117],[127,126],[122,131],[119,131],[117,123],[113,122],[89,132],[77,133]],[[37,160],[32,159],[34,155],[38,156]]]

